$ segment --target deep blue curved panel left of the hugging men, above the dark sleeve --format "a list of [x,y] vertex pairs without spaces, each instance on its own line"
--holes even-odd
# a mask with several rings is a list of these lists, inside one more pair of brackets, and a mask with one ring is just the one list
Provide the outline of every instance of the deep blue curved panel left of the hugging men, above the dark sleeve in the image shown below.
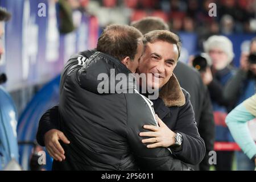
[[[59,83],[60,76],[54,78],[45,85],[35,97],[28,103],[18,122],[18,140],[24,142],[34,142],[38,131],[38,122],[46,110],[59,103]],[[19,162],[23,169],[29,168],[29,160],[33,150],[32,145],[19,146]],[[51,169],[51,159],[47,155],[46,168]]]

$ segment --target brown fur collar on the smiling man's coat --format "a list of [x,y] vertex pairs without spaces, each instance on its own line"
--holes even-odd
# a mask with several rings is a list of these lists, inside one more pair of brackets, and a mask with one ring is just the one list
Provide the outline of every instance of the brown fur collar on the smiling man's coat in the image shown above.
[[160,90],[159,97],[162,98],[164,105],[167,107],[180,107],[185,104],[184,93],[174,73],[172,73],[170,80]]

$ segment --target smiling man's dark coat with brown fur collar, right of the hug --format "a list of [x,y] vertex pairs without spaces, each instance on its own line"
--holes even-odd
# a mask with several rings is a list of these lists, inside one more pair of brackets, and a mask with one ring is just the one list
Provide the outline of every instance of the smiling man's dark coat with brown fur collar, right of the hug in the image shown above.
[[182,89],[175,75],[160,90],[159,98],[152,100],[155,113],[174,132],[183,136],[181,148],[172,148],[176,158],[189,164],[199,164],[205,155],[204,140],[200,137],[189,93]]

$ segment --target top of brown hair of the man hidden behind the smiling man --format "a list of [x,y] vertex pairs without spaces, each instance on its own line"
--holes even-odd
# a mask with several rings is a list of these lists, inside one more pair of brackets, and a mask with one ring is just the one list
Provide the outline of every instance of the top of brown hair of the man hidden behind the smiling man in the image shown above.
[[162,18],[154,16],[131,22],[131,26],[137,28],[143,35],[153,30],[170,30],[168,24]]

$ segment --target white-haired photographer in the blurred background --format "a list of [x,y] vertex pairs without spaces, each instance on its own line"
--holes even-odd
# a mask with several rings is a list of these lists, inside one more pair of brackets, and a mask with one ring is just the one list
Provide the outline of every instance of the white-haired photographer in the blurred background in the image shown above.
[[[213,105],[217,142],[233,142],[232,135],[225,123],[228,112],[234,102],[224,99],[224,86],[233,77],[234,69],[230,66],[234,52],[232,42],[225,36],[213,35],[204,43],[205,52],[209,55],[212,66],[201,73],[204,84],[208,86]],[[217,91],[216,91],[217,90]],[[217,171],[232,169],[233,151],[217,151]]]

